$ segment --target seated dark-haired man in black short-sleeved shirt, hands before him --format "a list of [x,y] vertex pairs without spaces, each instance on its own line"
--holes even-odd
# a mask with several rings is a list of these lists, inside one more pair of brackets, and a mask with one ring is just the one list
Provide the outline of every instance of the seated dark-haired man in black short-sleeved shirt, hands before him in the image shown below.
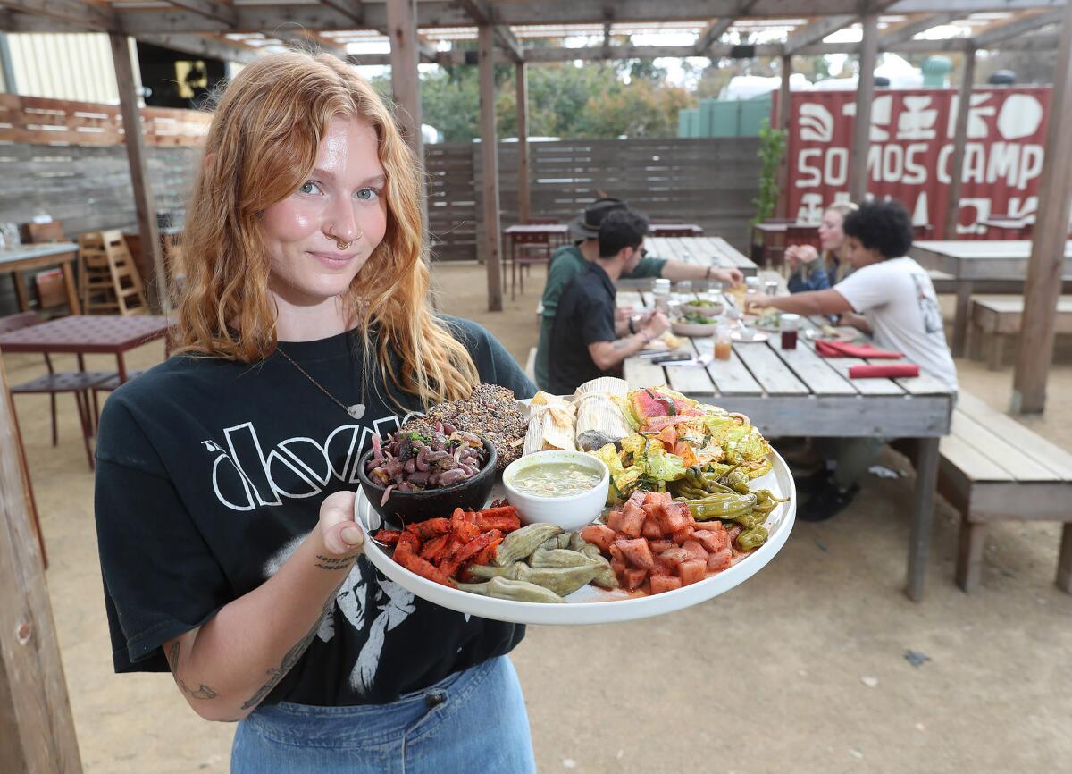
[[[599,376],[616,376],[625,358],[670,327],[661,312],[630,333],[629,321],[615,323],[614,280],[640,263],[647,219],[619,209],[599,226],[599,256],[585,263],[559,299],[551,329],[549,389],[570,395]],[[620,338],[621,337],[621,338]]]

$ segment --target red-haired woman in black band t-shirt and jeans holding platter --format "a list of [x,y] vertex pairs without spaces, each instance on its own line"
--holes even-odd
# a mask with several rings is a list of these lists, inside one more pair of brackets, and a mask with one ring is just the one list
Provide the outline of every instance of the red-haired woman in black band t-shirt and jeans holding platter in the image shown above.
[[390,582],[353,517],[374,433],[479,382],[534,391],[483,328],[432,313],[419,174],[342,61],[242,70],[187,211],[178,354],[101,419],[116,670],[169,670],[239,721],[237,774],[535,770],[505,657],[524,627]]

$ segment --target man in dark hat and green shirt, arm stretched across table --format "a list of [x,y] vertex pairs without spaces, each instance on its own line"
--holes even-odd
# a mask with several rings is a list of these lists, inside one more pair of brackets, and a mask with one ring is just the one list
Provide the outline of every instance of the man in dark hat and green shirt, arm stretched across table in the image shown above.
[[[562,292],[575,277],[599,256],[599,225],[604,218],[609,212],[628,208],[622,199],[611,197],[596,199],[584,208],[584,212],[570,221],[569,236],[574,243],[559,248],[551,256],[551,267],[547,272],[547,284],[544,286],[539,343],[536,346],[536,384],[540,389],[550,387],[551,331],[554,328],[554,315],[559,310]],[[668,280],[713,280],[728,284],[744,282],[744,276],[738,269],[696,266],[684,261],[651,256],[642,257],[631,271],[622,274],[622,279],[626,280],[655,277],[665,277]]]

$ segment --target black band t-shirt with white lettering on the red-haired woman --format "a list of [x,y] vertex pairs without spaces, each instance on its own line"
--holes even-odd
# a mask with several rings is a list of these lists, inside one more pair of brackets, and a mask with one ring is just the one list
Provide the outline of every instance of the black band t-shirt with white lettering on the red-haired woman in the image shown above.
[[[503,346],[444,318],[480,378],[532,397]],[[358,483],[371,436],[406,416],[363,372],[361,338],[280,348],[247,364],[173,357],[117,390],[96,447],[96,529],[116,671],[167,671],[161,645],[271,577],[316,525],[323,500]],[[416,401],[407,397],[407,406]],[[448,516],[448,515],[444,515]],[[466,617],[415,597],[359,556],[336,606],[266,703],[386,703],[509,652],[524,627]]]

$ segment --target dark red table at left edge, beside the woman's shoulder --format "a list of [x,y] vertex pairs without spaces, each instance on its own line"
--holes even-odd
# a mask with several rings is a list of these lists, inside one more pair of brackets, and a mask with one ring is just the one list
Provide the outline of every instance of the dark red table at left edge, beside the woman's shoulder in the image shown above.
[[0,334],[0,352],[73,354],[78,356],[78,370],[85,371],[85,356],[116,356],[119,383],[126,382],[125,353],[167,334],[166,317],[135,314],[73,314],[57,317],[41,325]]

